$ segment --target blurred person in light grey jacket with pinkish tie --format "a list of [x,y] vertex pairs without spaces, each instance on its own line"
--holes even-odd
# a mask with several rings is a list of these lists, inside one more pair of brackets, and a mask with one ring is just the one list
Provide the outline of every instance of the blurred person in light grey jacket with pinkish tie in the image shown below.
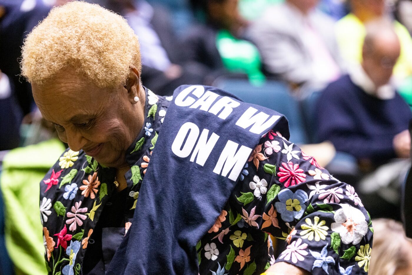
[[267,8],[248,30],[265,70],[300,87],[300,95],[339,78],[342,61],[333,24],[315,9],[318,0],[287,0]]

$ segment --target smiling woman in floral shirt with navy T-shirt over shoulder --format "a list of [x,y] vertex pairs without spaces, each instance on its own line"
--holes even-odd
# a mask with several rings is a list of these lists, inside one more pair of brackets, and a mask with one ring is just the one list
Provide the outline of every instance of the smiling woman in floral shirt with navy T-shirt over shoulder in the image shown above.
[[[49,273],[368,272],[361,200],[287,140],[279,113],[213,87],[156,96],[138,38],[98,5],[52,9],[22,55],[70,147],[40,183]],[[276,263],[268,234],[288,243]]]

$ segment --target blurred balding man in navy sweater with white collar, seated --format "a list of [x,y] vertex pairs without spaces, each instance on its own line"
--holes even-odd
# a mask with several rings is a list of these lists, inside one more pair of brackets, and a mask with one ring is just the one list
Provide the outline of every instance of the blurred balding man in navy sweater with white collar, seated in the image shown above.
[[[399,185],[409,166],[407,129],[412,113],[391,82],[400,42],[390,21],[367,25],[362,52],[362,64],[321,93],[316,107],[318,136],[331,141],[337,151],[355,156],[362,170],[370,172],[359,190],[372,195],[363,199],[372,217],[399,218],[396,209]],[[404,160],[391,162],[395,158]]]

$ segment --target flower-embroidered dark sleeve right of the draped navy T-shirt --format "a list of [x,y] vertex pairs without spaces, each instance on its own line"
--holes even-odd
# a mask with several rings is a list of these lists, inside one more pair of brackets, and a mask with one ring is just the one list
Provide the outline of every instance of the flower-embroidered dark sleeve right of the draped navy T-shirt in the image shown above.
[[312,274],[368,272],[369,214],[353,187],[314,157],[272,130],[253,150],[241,181],[236,199],[243,221],[287,242],[276,261]]

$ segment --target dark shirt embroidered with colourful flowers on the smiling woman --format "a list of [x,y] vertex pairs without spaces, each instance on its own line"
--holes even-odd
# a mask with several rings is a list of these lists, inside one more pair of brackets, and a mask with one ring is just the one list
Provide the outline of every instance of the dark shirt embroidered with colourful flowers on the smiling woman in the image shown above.
[[[114,169],[83,151],[66,150],[44,177],[40,212],[50,274],[104,274],[134,211],[150,211],[136,209],[136,202],[170,101],[146,90],[144,127],[126,154],[125,190],[116,191]],[[281,131],[262,136],[220,216],[199,240],[199,273],[264,272],[275,262],[270,234],[288,244],[276,261],[313,274],[366,274],[373,229],[361,200]]]

